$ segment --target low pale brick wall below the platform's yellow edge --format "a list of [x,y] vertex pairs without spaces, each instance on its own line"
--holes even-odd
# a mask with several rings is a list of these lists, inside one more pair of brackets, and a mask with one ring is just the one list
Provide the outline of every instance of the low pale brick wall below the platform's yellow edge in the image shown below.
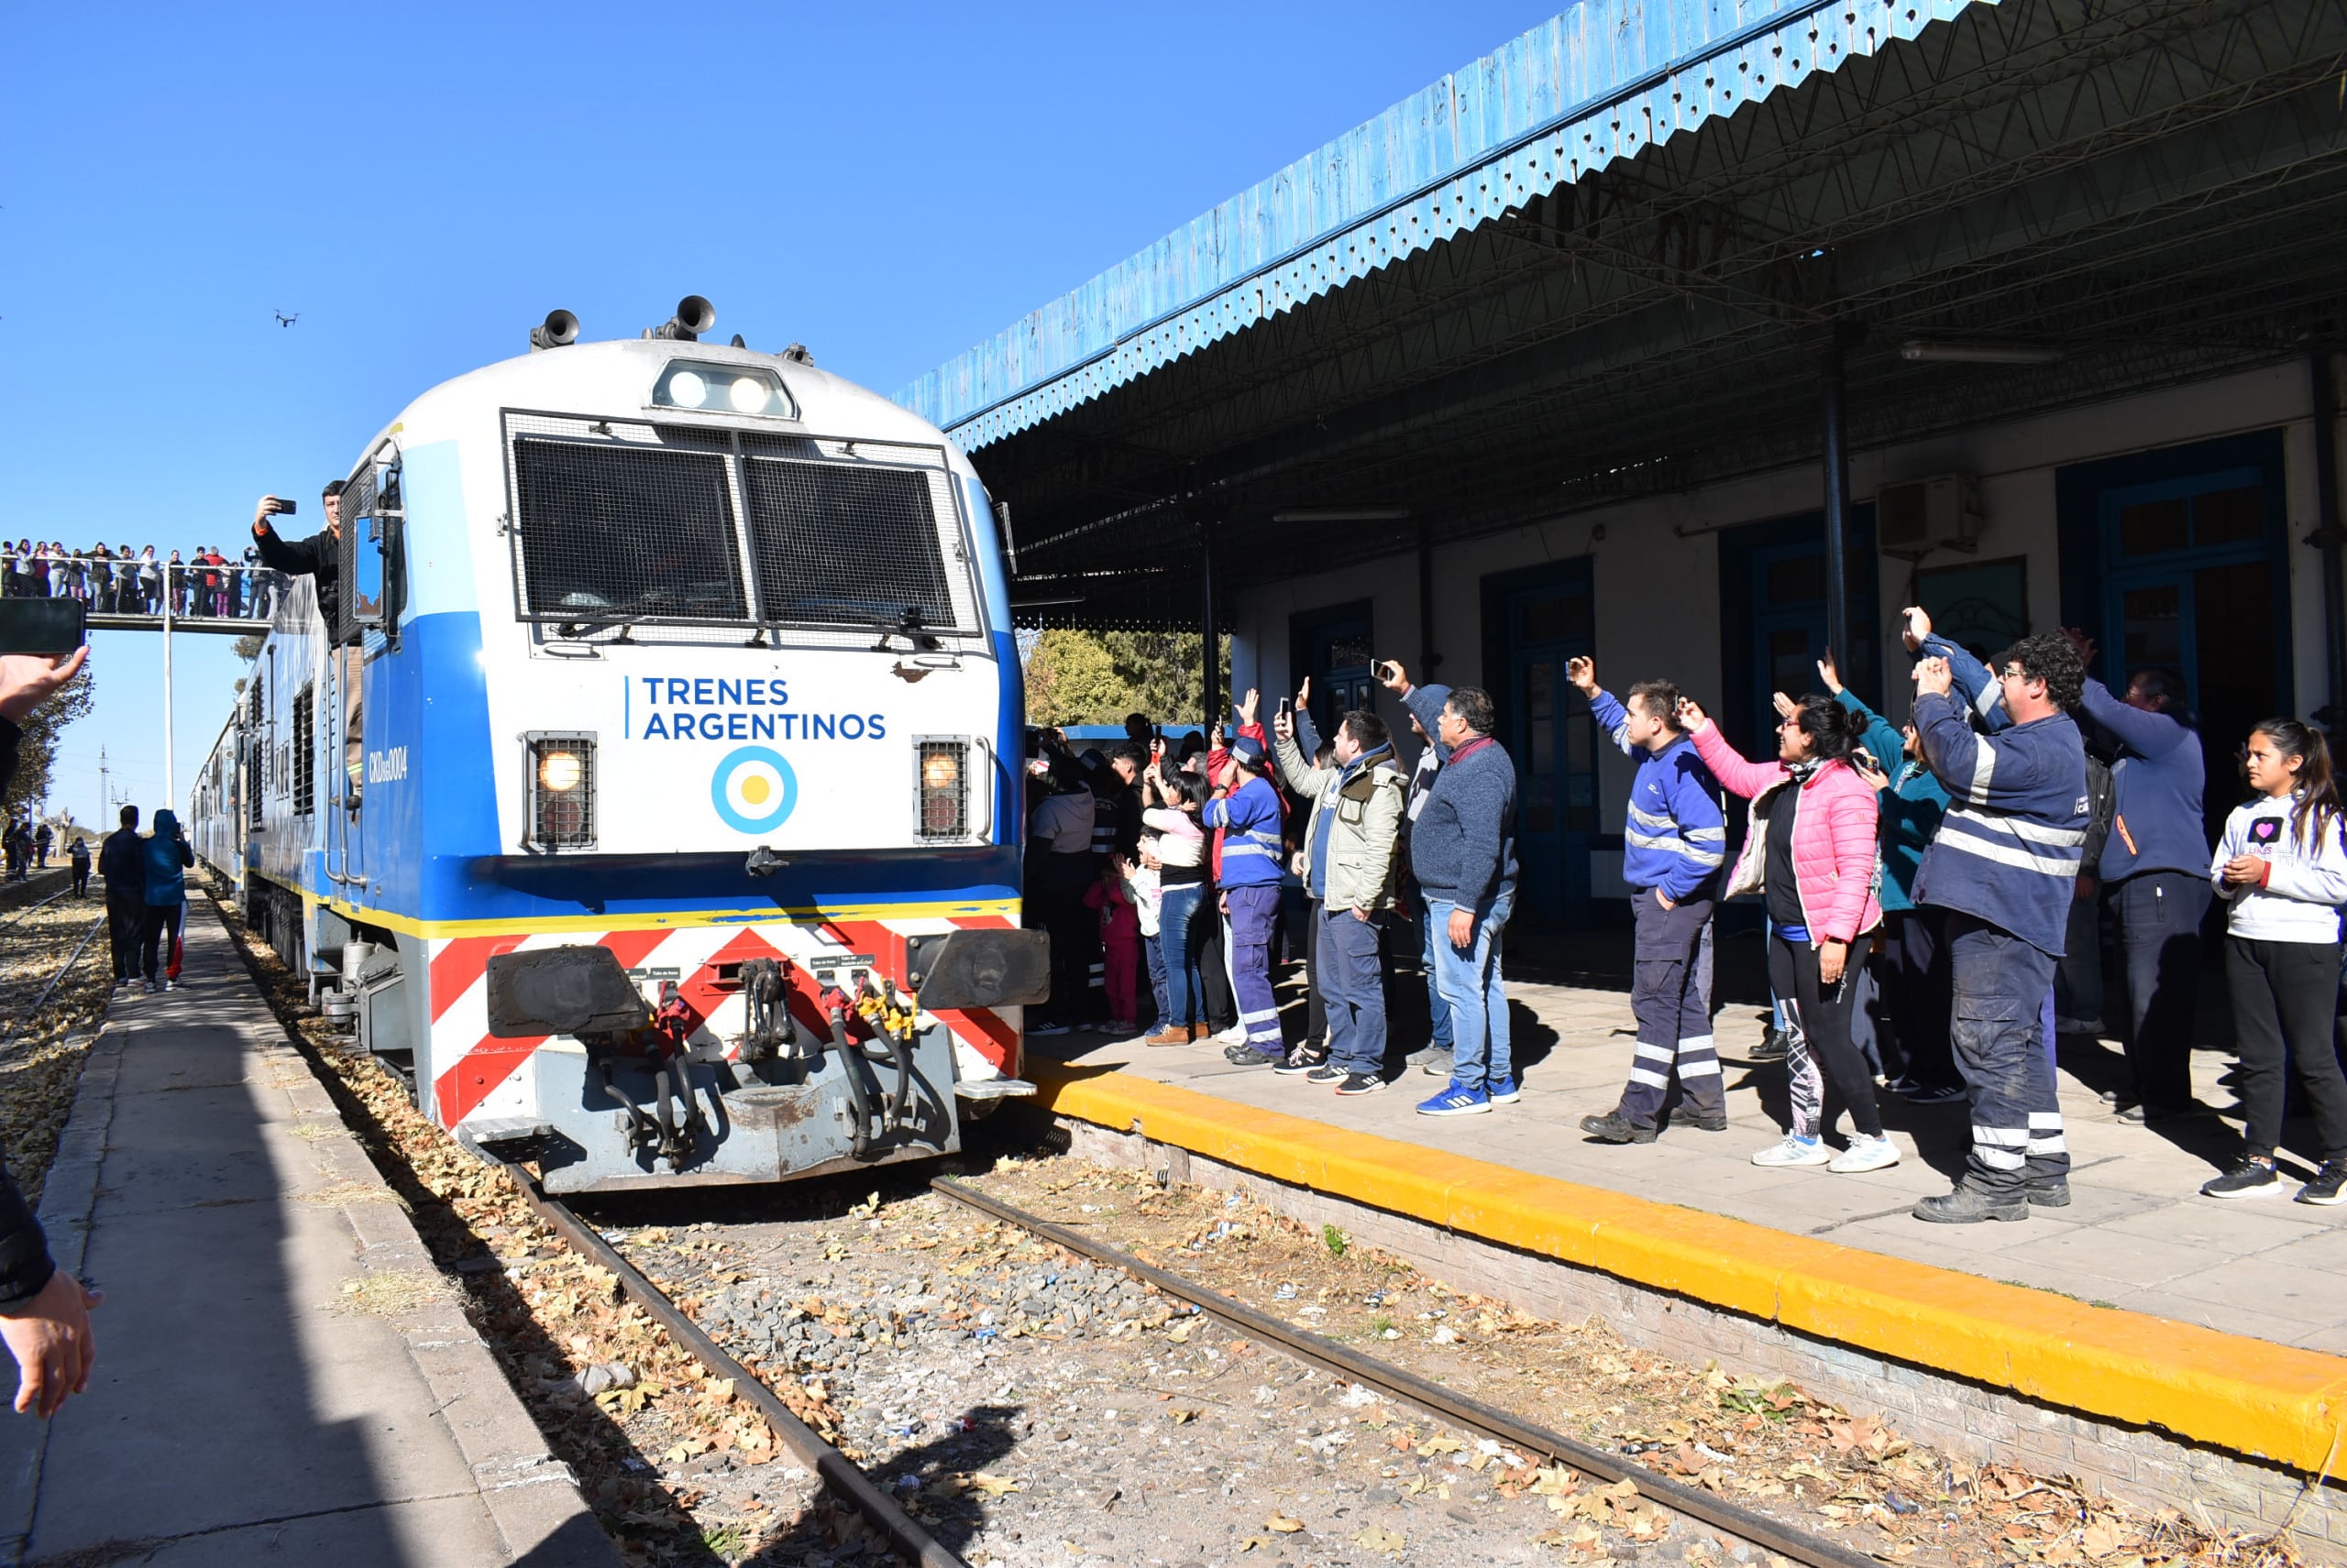
[[1791,1378],[1852,1413],[1882,1413],[1906,1439],[1941,1453],[2072,1476],[2143,1507],[2178,1507],[2209,1526],[2272,1530],[2298,1507],[2293,1533],[2305,1556],[2347,1566],[2347,1507],[2338,1481],[2309,1493],[2307,1476],[2265,1460],[1856,1352],[1556,1258],[1291,1188],[1138,1134],[1073,1120],[1056,1120],[1056,1127],[1075,1155],[1096,1164],[1164,1169],[1174,1181],[1251,1192],[1274,1214],[1307,1225],[1333,1223],[1455,1289],[1551,1322],[1603,1319],[1624,1343],[1695,1366],[1718,1361],[1741,1376]]

